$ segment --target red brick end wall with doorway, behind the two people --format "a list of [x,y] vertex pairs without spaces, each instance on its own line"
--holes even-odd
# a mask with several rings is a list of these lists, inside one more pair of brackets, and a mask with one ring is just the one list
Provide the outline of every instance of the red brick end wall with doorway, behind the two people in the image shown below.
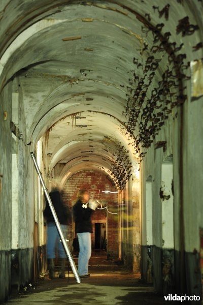
[[[113,182],[110,181],[107,176],[100,171],[85,170],[78,172],[70,177],[66,181],[63,188],[63,200],[72,209],[76,202],[77,192],[80,189],[87,189],[90,194],[90,198],[99,200],[104,206],[107,206],[110,212],[117,212],[118,207],[118,194],[105,194],[102,191],[117,191]],[[107,251],[108,256],[113,258],[118,257],[118,215],[109,214],[106,209],[101,209],[93,213],[92,215],[93,231],[95,223],[105,223],[107,227]],[[94,249],[95,233],[91,234],[92,248]],[[72,249],[74,233],[74,223],[69,227],[70,248]],[[72,249],[73,250],[73,249]]]

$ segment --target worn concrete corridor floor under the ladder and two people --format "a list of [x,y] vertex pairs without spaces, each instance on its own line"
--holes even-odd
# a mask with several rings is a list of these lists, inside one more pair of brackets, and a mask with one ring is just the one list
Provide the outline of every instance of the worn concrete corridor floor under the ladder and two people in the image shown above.
[[[104,254],[105,255],[105,254]],[[140,280],[140,273],[133,273],[109,261],[106,256],[93,254],[90,260],[90,278],[77,284],[72,271],[70,278],[52,279],[45,275],[36,283],[27,285],[20,293],[13,293],[8,305],[14,304],[170,304],[155,293],[152,285]],[[77,259],[75,259],[77,265]],[[99,262],[99,264],[98,264]],[[57,267],[56,267],[57,269]],[[58,272],[55,276],[57,277]]]

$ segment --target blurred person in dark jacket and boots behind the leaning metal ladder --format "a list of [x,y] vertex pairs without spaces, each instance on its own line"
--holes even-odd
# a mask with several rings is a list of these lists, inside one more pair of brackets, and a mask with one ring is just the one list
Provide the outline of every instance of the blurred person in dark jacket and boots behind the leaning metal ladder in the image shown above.
[[[49,196],[53,203],[63,234],[64,236],[66,236],[67,225],[70,221],[69,209],[65,204],[63,204],[59,189],[52,190],[49,193]],[[59,265],[60,265],[59,278],[64,279],[66,254],[62,242],[60,241],[60,235],[56,228],[54,218],[47,201],[46,201],[46,208],[43,214],[44,217],[47,219],[47,258],[48,258],[49,278],[50,279],[54,278],[54,259],[55,259],[55,251],[57,248]]]

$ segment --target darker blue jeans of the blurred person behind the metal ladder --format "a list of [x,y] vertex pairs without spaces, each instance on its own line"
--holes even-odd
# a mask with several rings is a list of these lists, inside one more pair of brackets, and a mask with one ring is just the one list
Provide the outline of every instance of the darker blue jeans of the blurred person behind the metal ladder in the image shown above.
[[[67,225],[60,225],[64,236],[67,236]],[[58,250],[59,258],[66,258],[66,253],[64,251],[62,242],[60,241],[60,236],[56,228],[55,223],[47,223],[47,257],[55,258],[56,249]]]

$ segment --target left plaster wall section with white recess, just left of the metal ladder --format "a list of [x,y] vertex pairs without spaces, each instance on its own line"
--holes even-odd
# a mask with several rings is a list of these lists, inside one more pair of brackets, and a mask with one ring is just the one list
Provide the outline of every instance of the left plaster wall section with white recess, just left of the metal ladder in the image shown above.
[[[23,96],[20,90],[19,94],[13,94],[14,103],[18,98],[18,107],[16,113],[13,113],[13,120],[18,124],[19,132],[22,133],[22,139],[13,139],[13,181],[18,181],[17,189],[13,184],[13,222],[12,226],[12,261],[11,261],[11,285],[17,289],[22,288],[33,279],[33,223],[34,223],[34,204],[33,204],[33,164],[29,154],[30,146],[27,145],[25,132],[25,116],[23,110]],[[11,90],[12,92],[12,90]],[[12,164],[12,163],[11,163]],[[17,193],[16,193],[17,192]],[[15,232],[14,232],[15,231]]]

